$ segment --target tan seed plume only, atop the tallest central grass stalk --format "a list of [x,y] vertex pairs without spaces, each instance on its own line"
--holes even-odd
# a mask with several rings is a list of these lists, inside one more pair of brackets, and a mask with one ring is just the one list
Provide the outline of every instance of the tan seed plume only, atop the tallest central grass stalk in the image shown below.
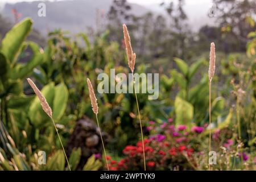
[[129,68],[131,69],[131,72],[133,72],[134,66],[135,66],[136,54],[133,52],[133,48],[131,47],[130,35],[125,24],[123,24],[123,38],[125,39],[128,65],[129,65]]

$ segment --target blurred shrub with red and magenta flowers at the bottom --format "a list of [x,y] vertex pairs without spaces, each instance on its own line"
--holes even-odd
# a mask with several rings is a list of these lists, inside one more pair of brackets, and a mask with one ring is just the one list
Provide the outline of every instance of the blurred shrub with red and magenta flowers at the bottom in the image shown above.
[[[144,139],[147,170],[207,169],[208,135],[201,135],[206,127],[193,126],[189,129],[185,125],[175,126],[172,119],[160,125],[150,121],[147,127],[150,135]],[[221,135],[229,139],[222,139]],[[231,137],[229,130],[216,130],[213,133],[213,147],[217,146],[216,152],[220,156],[216,169],[230,157],[237,160],[242,154],[244,162],[249,159],[245,152],[234,150],[234,140]],[[119,162],[109,160],[111,170],[143,170],[142,141],[137,142],[136,146],[126,146],[123,155]]]

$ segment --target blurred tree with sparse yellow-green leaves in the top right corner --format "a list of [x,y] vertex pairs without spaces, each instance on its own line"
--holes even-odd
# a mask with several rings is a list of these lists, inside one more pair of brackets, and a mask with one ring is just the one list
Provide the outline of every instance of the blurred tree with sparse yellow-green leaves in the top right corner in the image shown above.
[[225,52],[245,51],[247,35],[253,31],[248,18],[255,17],[256,2],[254,0],[213,0],[213,3],[217,8],[216,20],[220,23],[222,36],[225,39],[223,45]]

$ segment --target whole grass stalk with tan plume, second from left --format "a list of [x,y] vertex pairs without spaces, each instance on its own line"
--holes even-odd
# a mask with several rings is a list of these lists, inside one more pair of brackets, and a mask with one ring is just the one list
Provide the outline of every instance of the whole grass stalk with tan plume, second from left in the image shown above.
[[92,82],[90,82],[89,78],[87,78],[87,85],[88,85],[88,88],[89,88],[89,96],[90,96],[90,102],[92,104],[92,110],[93,110],[93,113],[96,115],[97,125],[98,125],[98,129],[100,131],[102,147],[103,147],[103,151],[104,151],[104,155],[105,155],[105,160],[106,160],[106,166],[107,166],[108,171],[109,171],[109,164],[108,164],[108,159],[106,158],[106,150],[105,150],[105,146],[104,146],[104,142],[103,142],[103,138],[102,138],[102,134],[101,134],[100,123],[98,122],[98,103],[97,103],[97,98],[96,98],[94,90],[93,90]]

